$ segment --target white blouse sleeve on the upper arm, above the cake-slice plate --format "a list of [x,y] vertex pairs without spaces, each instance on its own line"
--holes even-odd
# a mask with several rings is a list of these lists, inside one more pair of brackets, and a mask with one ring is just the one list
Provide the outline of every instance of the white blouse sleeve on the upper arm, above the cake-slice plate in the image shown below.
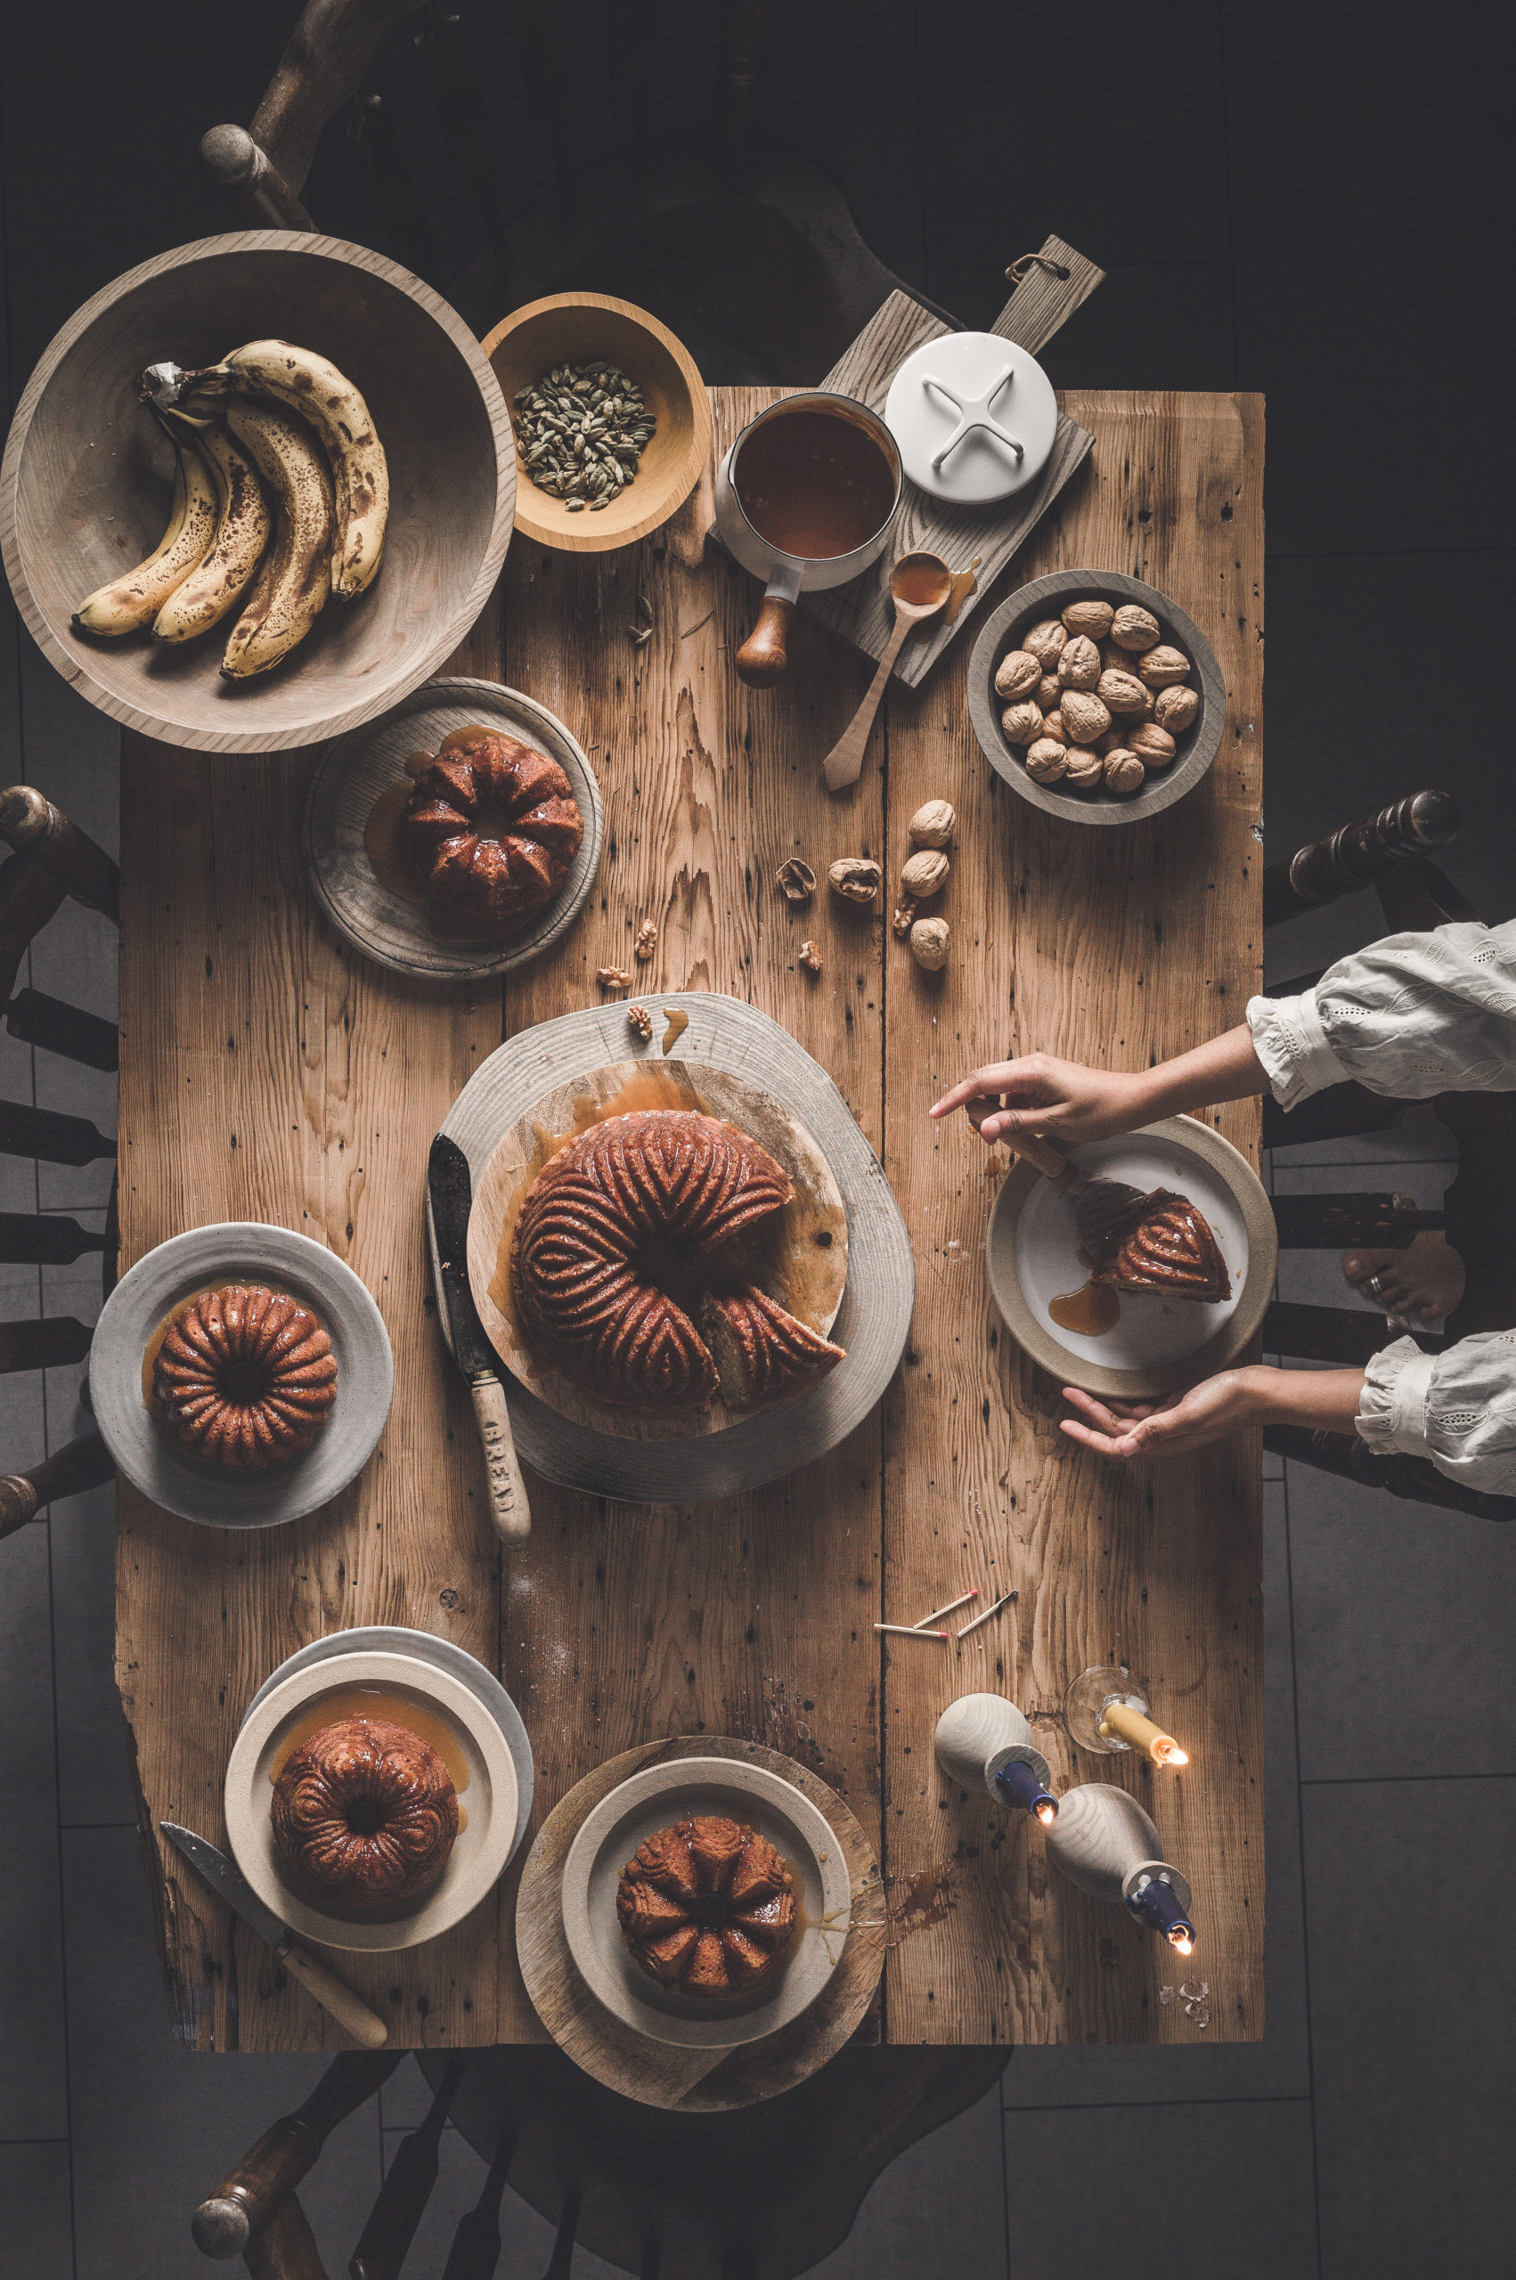
[[1249,999],[1247,1026],[1283,1108],[1356,1078],[1370,1092],[1516,1090],[1516,919],[1386,935],[1295,999]]

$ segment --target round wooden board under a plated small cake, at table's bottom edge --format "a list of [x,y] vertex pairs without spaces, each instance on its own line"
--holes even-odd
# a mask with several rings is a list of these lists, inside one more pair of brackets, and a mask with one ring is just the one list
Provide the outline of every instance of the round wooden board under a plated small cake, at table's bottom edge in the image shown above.
[[[688,2050],[636,2034],[590,1995],[563,1936],[563,1863],[586,1817],[631,1774],[677,1758],[732,1758],[789,1781],[825,1817],[853,1883],[853,1929],[816,2002],[777,2034],[736,2050]],[[859,1822],[809,1767],[759,1742],[677,1735],[595,1767],[547,1815],[515,1899],[515,1952],[538,2018],[586,2075],[647,2107],[725,2114],[805,2082],[864,2020],[885,1968],[880,1870]]]

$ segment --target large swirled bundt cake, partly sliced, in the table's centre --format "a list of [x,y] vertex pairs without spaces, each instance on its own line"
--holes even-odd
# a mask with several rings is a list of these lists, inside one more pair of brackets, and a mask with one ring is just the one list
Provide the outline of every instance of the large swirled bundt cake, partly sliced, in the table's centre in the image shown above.
[[[682,1300],[695,1306],[704,1279],[723,1279],[723,1247],[791,1197],[768,1149],[718,1117],[691,1108],[606,1117],[559,1149],[527,1190],[511,1245],[520,1325],[604,1400],[700,1409],[716,1391],[718,1361]],[[743,1300],[761,1293],[745,1288]],[[773,1379],[775,1393],[796,1393],[841,1361],[841,1347],[816,1341],[773,1300],[761,1306],[759,1316],[748,1304],[743,1322],[757,1345],[782,1343],[786,1382],[777,1384],[775,1359],[773,1370],[755,1361],[750,1384]],[[805,1341],[814,1341],[809,1373]],[[723,1393],[752,1398],[725,1375]]]

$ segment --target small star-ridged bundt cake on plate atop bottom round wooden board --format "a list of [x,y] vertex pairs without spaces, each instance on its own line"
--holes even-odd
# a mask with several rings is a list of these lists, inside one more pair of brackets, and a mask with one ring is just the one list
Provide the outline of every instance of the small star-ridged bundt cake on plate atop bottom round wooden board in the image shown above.
[[741,1822],[707,1815],[659,1829],[616,1886],[620,1936],[659,1986],[745,1995],[784,1961],[796,1879]]

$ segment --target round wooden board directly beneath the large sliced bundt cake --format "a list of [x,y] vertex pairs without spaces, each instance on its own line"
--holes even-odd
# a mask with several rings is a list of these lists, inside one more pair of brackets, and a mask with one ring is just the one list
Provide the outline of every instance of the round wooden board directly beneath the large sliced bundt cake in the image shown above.
[[[720,1395],[695,1416],[652,1416],[618,1402],[597,1400],[563,1370],[533,1354],[520,1332],[511,1297],[511,1240],[527,1190],[556,1151],[563,1135],[584,1131],[604,1117],[631,1115],[641,1108],[700,1110],[745,1131],[780,1163],[793,1183],[796,1199],[775,1213],[773,1231],[764,1231],[761,1286],[825,1338],[841,1306],[848,1279],[848,1213],[832,1167],[807,1133],[800,1117],[730,1069],[700,1069],[677,1060],[618,1060],[609,1069],[590,1069],[565,1085],[554,1085],[529,1115],[517,1117],[490,1156],[483,1179],[474,1183],[470,1215],[470,1284],[479,1320],[506,1368],[538,1393],[559,1416],[577,1418],[597,1432],[627,1441],[688,1441],[695,1434],[727,1432],[741,1423],[743,1409],[727,1409]],[[782,1404],[786,1407],[786,1404]]]

